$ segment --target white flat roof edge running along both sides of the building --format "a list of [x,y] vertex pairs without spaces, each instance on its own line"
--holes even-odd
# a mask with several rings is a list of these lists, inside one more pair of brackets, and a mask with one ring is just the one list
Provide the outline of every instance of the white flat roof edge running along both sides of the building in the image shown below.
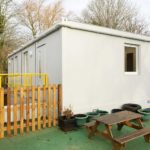
[[24,50],[25,48],[29,47],[33,43],[50,35],[51,33],[59,30],[62,27],[82,30],[82,31],[87,31],[87,32],[93,32],[93,33],[98,33],[98,34],[110,35],[110,36],[115,36],[115,37],[127,38],[127,39],[132,39],[132,40],[138,40],[138,41],[143,41],[143,42],[150,42],[150,37],[145,36],[145,35],[119,31],[116,29],[110,29],[110,28],[100,27],[100,26],[91,25],[91,24],[84,24],[84,23],[78,23],[78,22],[72,22],[72,21],[61,21],[59,23],[54,24],[49,30],[47,30],[46,32],[38,36],[36,39],[33,39],[31,42],[25,44],[21,48],[14,50],[12,53],[8,55],[8,57],[11,57],[12,55],[18,53],[19,51]]

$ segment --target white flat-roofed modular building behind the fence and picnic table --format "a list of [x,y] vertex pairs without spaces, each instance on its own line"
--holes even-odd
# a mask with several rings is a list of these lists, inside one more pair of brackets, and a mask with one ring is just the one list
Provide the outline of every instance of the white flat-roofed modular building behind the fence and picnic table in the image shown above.
[[150,37],[62,21],[8,56],[9,73],[47,73],[75,113],[150,104]]

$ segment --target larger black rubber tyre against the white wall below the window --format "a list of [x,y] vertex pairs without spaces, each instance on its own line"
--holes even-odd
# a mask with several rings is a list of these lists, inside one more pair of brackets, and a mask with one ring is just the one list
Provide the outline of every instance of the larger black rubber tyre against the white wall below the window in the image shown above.
[[138,109],[141,109],[142,107],[138,104],[124,104],[122,106],[123,110],[128,110],[132,112],[137,112]]

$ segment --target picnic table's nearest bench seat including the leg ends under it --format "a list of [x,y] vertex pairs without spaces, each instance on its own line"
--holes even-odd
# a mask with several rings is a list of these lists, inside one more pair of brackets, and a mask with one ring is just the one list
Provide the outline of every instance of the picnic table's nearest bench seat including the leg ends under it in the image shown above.
[[136,130],[132,133],[129,133],[125,136],[115,138],[114,141],[114,149],[121,150],[125,147],[125,144],[129,141],[132,141],[136,138],[144,136],[146,142],[150,142],[150,128],[142,128],[140,130]]

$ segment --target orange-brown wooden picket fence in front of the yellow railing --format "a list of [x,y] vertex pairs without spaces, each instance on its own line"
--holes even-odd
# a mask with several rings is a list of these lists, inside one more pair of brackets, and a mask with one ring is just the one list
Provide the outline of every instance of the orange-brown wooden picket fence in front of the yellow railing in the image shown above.
[[[7,95],[7,97],[6,97]],[[5,97],[5,98],[4,98]],[[7,105],[4,106],[4,100]],[[56,126],[62,112],[62,87],[0,88],[0,139]]]

